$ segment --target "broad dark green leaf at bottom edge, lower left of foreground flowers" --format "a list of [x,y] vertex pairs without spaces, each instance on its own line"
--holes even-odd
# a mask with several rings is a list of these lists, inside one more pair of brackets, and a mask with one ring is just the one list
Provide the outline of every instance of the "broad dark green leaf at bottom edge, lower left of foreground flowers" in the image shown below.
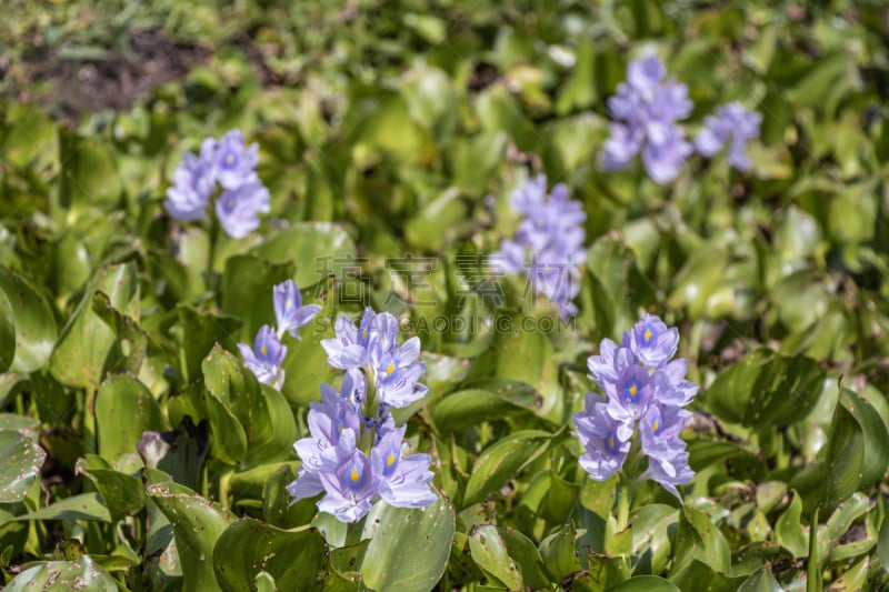
[[267,572],[280,590],[320,590],[327,546],[317,530],[281,530],[244,518],[226,529],[213,549],[213,569],[222,590],[253,590]]

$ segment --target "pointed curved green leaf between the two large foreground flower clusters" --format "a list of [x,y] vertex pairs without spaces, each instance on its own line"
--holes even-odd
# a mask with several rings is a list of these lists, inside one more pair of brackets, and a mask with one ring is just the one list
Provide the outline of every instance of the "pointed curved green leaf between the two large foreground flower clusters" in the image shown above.
[[490,445],[479,455],[466,484],[463,506],[485,499],[518,476],[522,469],[546,452],[553,434],[540,430],[522,430]]

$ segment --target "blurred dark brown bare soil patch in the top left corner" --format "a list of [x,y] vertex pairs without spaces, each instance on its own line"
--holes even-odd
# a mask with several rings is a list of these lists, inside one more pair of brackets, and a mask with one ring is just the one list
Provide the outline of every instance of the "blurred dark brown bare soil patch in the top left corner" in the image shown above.
[[127,50],[101,59],[60,57],[56,49],[34,48],[22,63],[23,79],[13,81],[17,100],[39,101],[77,119],[84,112],[121,110],[144,99],[151,89],[182,79],[211,50],[177,43],[160,31],[128,33]]

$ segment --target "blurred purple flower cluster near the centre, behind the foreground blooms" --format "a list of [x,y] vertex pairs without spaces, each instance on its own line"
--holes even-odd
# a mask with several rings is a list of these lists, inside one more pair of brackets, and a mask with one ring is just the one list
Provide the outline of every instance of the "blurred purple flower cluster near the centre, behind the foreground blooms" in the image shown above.
[[492,262],[506,273],[527,272],[529,285],[558,305],[562,317],[577,313],[572,300],[580,291],[578,265],[587,259],[583,207],[569,198],[563,183],[548,197],[545,174],[517,189],[511,203],[523,219],[516,240],[503,240],[491,253]]

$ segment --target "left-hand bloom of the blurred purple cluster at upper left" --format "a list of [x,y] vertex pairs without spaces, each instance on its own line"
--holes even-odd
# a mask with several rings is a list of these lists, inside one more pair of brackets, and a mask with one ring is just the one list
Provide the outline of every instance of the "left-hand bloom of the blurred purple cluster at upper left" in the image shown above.
[[173,173],[173,184],[167,190],[163,207],[177,220],[191,221],[203,217],[213,191],[212,158],[216,141],[207,138],[200,155],[186,152]]

